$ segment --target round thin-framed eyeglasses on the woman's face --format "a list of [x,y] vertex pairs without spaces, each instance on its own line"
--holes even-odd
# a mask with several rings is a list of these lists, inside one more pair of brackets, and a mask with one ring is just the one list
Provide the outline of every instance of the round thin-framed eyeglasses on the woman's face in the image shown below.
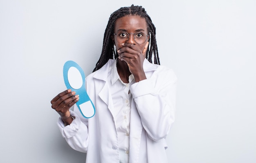
[[117,33],[114,33],[117,42],[119,42],[120,44],[126,43],[130,38],[130,34],[134,35],[133,38],[137,44],[143,44],[148,39],[148,35],[145,32],[127,33],[124,31],[119,31]]

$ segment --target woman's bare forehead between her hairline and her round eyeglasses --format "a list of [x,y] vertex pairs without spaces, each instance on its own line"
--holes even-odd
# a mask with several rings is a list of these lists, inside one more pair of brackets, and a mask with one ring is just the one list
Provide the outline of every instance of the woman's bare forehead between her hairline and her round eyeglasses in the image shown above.
[[125,30],[128,32],[133,32],[141,29],[147,31],[147,23],[145,18],[139,15],[127,15],[116,20],[114,31],[117,32],[119,30]]

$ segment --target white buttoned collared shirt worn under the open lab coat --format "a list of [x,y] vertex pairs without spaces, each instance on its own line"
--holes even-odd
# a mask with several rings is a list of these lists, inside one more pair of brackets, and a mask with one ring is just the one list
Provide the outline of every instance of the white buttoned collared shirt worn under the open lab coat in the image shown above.
[[129,162],[129,134],[130,134],[130,109],[132,94],[130,85],[135,83],[134,76],[129,76],[129,83],[124,83],[117,72],[117,62],[111,67],[111,75],[108,76],[110,93],[114,103],[113,117],[117,128],[120,163]]

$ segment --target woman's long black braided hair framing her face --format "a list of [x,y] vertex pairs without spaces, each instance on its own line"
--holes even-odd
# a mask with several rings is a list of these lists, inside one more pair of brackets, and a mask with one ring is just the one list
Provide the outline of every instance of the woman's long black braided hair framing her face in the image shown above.
[[146,52],[146,59],[148,59],[148,61],[152,63],[152,54],[154,53],[154,64],[160,64],[157,51],[157,42],[155,38],[155,25],[153,24],[151,18],[146,13],[144,8],[142,8],[141,6],[134,6],[132,4],[130,7],[121,7],[110,15],[104,33],[101,57],[99,58],[99,61],[97,62],[93,72],[99,70],[104,64],[106,64],[108,62],[108,59],[116,59],[118,57],[117,52],[115,52],[114,42],[112,41],[111,36],[114,34],[115,21],[118,18],[122,18],[126,15],[139,15],[142,18],[145,18],[148,26],[148,33],[151,36],[151,40],[149,40],[150,46],[148,46]]

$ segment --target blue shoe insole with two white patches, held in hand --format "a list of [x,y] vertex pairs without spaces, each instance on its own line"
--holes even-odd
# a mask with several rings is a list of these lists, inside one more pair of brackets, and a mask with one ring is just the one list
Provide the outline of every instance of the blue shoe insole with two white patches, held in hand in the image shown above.
[[83,69],[76,62],[67,61],[63,66],[63,77],[67,89],[71,89],[79,95],[79,101],[76,102],[76,105],[83,117],[93,117],[95,107],[85,90],[85,75]]

